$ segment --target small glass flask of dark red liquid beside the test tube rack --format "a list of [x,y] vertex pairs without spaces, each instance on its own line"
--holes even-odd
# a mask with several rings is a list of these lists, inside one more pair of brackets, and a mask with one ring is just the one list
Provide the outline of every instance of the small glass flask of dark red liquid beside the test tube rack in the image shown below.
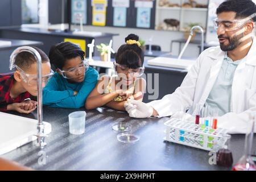
[[231,167],[233,164],[233,156],[229,146],[231,136],[224,134],[223,137],[226,139],[226,142],[224,147],[217,152],[217,165]]

